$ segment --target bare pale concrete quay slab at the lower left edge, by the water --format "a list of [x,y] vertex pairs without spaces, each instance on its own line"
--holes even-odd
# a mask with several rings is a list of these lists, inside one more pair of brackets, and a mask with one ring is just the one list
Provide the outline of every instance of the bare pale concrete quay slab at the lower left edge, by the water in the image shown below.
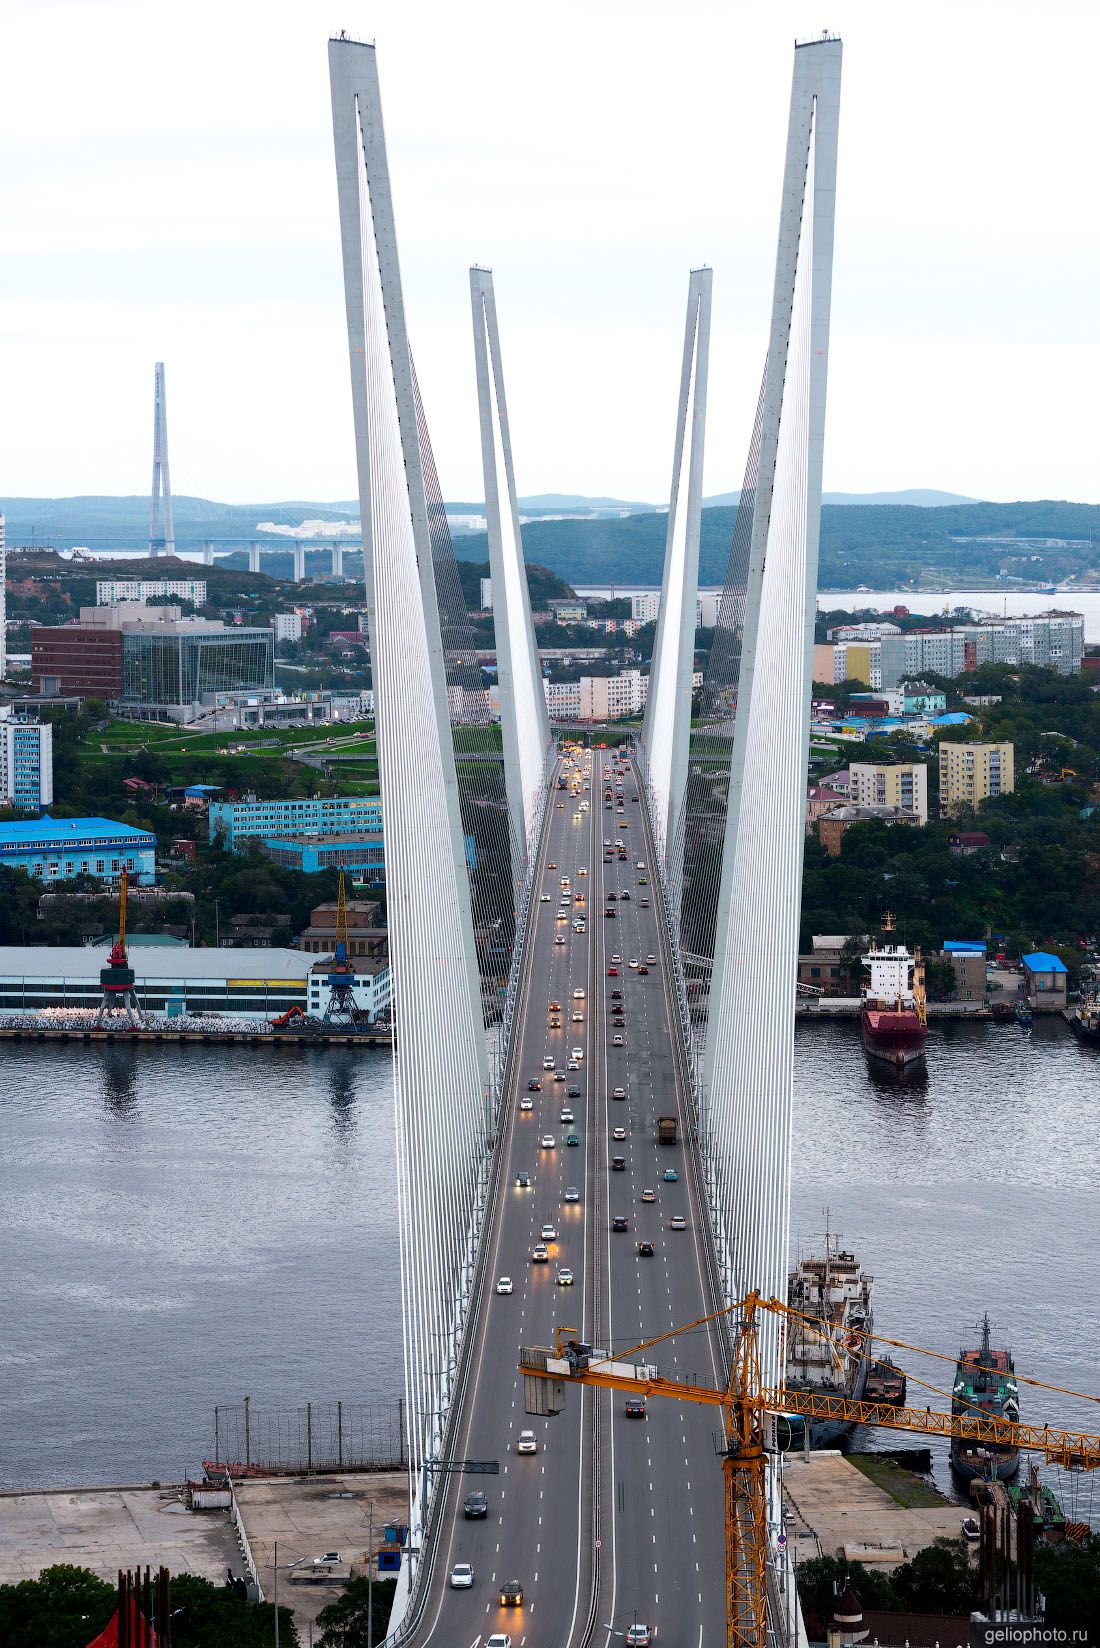
[[224,1513],[191,1515],[168,1488],[0,1495],[0,1584],[35,1579],[54,1562],[91,1567],[102,1579],[162,1562],[218,1584],[228,1567],[241,1571]]

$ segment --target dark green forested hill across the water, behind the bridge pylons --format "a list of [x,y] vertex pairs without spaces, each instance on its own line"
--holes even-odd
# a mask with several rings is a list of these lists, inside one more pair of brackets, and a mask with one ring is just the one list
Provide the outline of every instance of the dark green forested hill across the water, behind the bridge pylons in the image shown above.
[[[721,583],[734,529],[734,508],[703,511],[699,582]],[[618,521],[528,521],[528,560],[549,567],[567,583],[661,582],[663,514]],[[958,544],[957,537],[1019,537],[1019,544]],[[1084,539],[1084,549],[1047,549],[1027,539]],[[1090,547],[1093,544],[1095,547]],[[455,539],[458,555],[487,560],[485,534]],[[1037,557],[1037,559],[1034,559]],[[894,587],[924,577],[930,585],[965,587],[998,572],[1031,582],[1057,582],[1093,572],[1100,580],[1100,506],[1069,503],[955,504],[825,504],[821,509],[821,588]]]

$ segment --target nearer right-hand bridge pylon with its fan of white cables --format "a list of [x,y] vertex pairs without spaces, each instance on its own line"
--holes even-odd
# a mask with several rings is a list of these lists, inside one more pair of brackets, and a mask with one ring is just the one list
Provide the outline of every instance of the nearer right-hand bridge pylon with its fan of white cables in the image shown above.
[[[841,43],[795,46],[701,1132],[731,1297],[785,1297],[793,987],[833,282]],[[760,1374],[780,1381],[775,1327]]]

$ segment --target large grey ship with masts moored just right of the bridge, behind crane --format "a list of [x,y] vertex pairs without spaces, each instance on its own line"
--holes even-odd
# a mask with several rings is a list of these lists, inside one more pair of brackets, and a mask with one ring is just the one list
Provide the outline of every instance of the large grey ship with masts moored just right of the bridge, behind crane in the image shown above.
[[[810,1254],[787,1277],[787,1304],[798,1315],[787,1333],[787,1388],[859,1401],[871,1368],[874,1277],[859,1269],[841,1238],[825,1233],[825,1254]],[[805,1442],[803,1419],[790,1414],[780,1445]],[[828,1447],[853,1429],[846,1421],[811,1421],[810,1447]]]

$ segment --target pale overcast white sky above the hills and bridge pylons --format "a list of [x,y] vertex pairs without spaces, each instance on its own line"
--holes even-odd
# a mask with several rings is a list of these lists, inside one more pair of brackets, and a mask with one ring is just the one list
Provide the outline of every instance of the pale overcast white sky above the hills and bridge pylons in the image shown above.
[[356,494],[327,38],[378,46],[444,496],[480,499],[467,270],[519,493],[668,498],[688,270],[706,491],[764,364],[792,48],[844,40],[825,485],[1100,501],[1097,0],[3,0],[0,506]]

